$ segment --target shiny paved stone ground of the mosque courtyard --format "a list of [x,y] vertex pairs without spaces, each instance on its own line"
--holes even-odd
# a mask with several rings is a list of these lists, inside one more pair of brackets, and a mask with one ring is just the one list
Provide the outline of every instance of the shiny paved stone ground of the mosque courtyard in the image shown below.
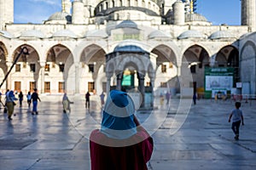
[[[100,127],[99,100],[89,110],[84,96],[70,96],[70,113],[62,113],[61,96],[41,96],[38,116],[26,102],[15,107],[13,121],[0,111],[0,170],[90,169],[88,137]],[[245,126],[234,139],[228,116],[234,103],[172,99],[170,107],[141,111],[137,116],[154,138],[148,169],[256,169],[256,102],[242,102]]]

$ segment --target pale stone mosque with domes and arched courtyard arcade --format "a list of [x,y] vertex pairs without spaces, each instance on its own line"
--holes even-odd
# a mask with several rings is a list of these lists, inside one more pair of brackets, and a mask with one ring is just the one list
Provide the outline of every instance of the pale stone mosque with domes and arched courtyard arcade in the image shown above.
[[1,90],[256,94],[255,1],[241,0],[241,26],[212,26],[195,2],[62,0],[44,23],[19,24],[0,0],[1,80],[19,56]]

